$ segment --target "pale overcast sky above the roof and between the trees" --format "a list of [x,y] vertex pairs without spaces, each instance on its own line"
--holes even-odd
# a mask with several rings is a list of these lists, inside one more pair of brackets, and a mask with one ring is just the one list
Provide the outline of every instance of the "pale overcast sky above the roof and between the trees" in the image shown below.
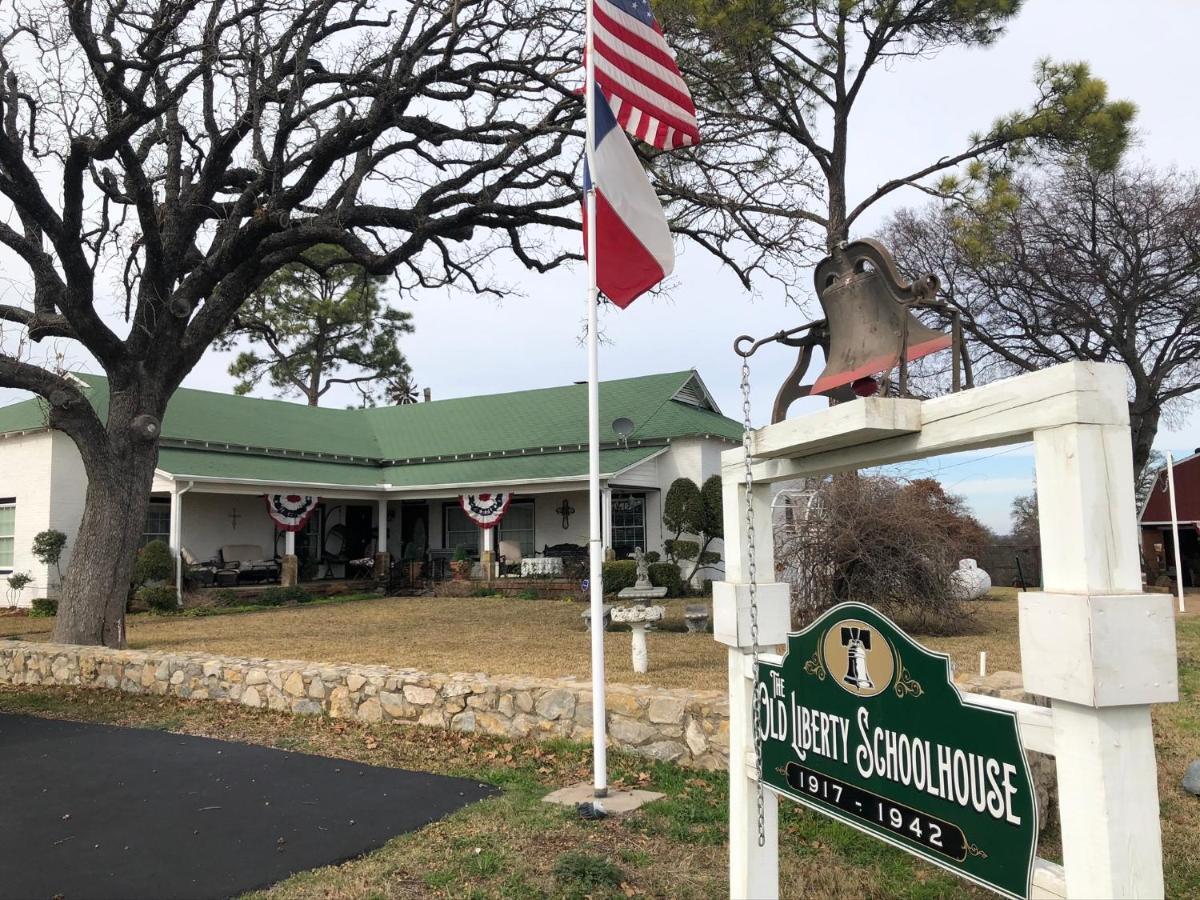
[[[986,128],[997,115],[1028,106],[1033,66],[1043,56],[1087,60],[1108,82],[1111,97],[1138,104],[1140,144],[1133,156],[1159,167],[1194,169],[1200,139],[1198,34],[1200,4],[1194,0],[1147,0],[1136,7],[1127,0],[1027,0],[1025,12],[995,47],[952,50],[876,72],[854,113],[851,205],[878,182],[961,149],[970,132]],[[920,202],[917,193],[899,192],[893,198],[858,223],[856,236],[870,236],[899,205]],[[746,294],[697,250],[683,248],[676,274],[671,299],[642,299],[624,312],[604,313],[601,378],[694,367],[724,412],[738,416],[733,338],[802,324],[814,310],[787,307],[769,289],[760,296]],[[503,304],[437,294],[413,305],[416,334],[403,349],[418,384],[431,388],[436,398],[586,378],[586,354],[578,343],[582,270],[541,276],[514,270],[510,280],[518,280],[523,296]],[[781,348],[764,348],[755,356],[756,424],[769,418],[793,359]],[[228,390],[233,385],[228,364],[228,354],[212,352],[185,384]],[[1159,434],[1160,449],[1182,455],[1200,446],[1200,424],[1193,415],[1184,419],[1177,431]],[[1032,469],[1027,446],[904,467],[907,475],[938,476],[997,530],[1008,529],[1012,498],[1031,490]]]

